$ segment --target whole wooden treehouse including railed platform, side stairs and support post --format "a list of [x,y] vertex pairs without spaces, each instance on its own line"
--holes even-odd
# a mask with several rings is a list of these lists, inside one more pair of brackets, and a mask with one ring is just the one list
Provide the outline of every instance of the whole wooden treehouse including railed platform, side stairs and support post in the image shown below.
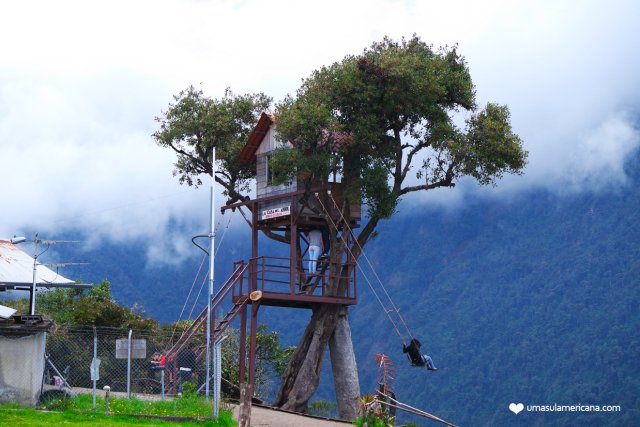
[[[240,315],[239,378],[243,381],[247,308],[251,306],[250,390],[246,391],[245,399],[253,392],[257,313],[261,305],[313,308],[320,304],[348,306],[357,303],[356,264],[350,252],[353,245],[350,230],[359,226],[360,200],[348,201],[342,183],[335,177],[310,182],[309,175],[301,172],[292,182],[274,183],[270,156],[275,150],[287,147],[291,144],[278,138],[273,117],[263,113],[237,160],[244,165],[255,165],[256,197],[222,208],[223,213],[240,211],[251,227],[251,258],[235,262],[233,273],[212,300],[212,309],[216,310],[230,296],[231,309],[211,328],[212,338],[216,340]],[[312,230],[322,231],[325,250],[329,242],[331,246],[330,256],[317,262],[316,271],[309,271],[307,251],[307,235]],[[278,246],[284,251],[270,253],[275,244],[260,245],[262,239],[280,242]],[[178,354],[205,323],[206,309],[169,354]],[[241,384],[241,390],[243,386]]]

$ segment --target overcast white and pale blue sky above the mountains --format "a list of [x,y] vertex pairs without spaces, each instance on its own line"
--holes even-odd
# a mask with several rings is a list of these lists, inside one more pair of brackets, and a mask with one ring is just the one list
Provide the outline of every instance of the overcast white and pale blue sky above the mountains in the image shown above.
[[[172,153],[150,136],[172,95],[201,84],[215,98],[231,87],[277,101],[384,35],[457,43],[479,103],[510,106],[530,164],[497,194],[624,185],[640,143],[634,1],[1,4],[0,237],[162,235],[160,257],[190,245],[167,224],[206,231],[208,189],[178,185]],[[460,203],[469,191],[421,202]]]

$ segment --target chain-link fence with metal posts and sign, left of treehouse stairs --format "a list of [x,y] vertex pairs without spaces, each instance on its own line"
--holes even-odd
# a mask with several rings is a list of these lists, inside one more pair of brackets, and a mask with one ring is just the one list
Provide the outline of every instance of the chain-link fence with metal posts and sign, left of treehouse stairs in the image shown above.
[[[158,366],[159,356],[167,351],[179,334],[131,331],[129,359],[129,333],[127,329],[93,327],[57,327],[51,330],[46,342],[45,389],[91,389],[93,366],[99,390],[108,385],[112,392],[129,390],[133,394],[160,395],[164,389],[167,394],[175,394],[180,386],[176,360],[167,360],[165,369]],[[195,337],[194,341],[200,343],[202,339]],[[99,378],[95,376],[94,353],[99,359]],[[205,381],[205,372],[204,358],[196,360],[190,381],[199,387]]]

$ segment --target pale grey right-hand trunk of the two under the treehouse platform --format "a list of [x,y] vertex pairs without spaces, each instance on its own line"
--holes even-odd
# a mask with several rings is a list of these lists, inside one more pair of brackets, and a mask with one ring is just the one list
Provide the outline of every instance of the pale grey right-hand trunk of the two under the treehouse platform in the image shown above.
[[360,381],[346,307],[338,313],[336,327],[329,340],[329,354],[340,417],[353,420],[357,416]]

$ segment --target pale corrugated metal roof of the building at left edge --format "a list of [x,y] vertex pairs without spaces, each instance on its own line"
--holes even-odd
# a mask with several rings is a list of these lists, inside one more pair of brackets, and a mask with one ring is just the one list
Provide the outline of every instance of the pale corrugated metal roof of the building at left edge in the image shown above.
[[[36,284],[39,287],[59,288],[78,286],[69,280],[37,263]],[[23,288],[33,283],[33,258],[7,240],[0,240],[0,289]],[[81,285],[87,287],[87,285]]]

